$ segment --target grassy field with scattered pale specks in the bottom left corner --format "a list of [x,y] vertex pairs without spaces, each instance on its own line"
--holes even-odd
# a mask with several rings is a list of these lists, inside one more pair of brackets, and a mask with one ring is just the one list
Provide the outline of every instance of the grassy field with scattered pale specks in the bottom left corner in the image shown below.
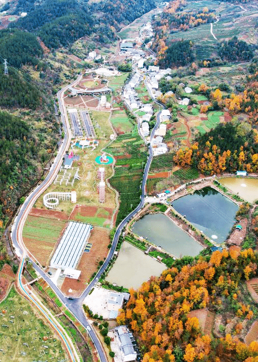
[[57,335],[14,288],[0,304],[0,309],[6,310],[0,317],[1,360],[57,362],[67,358]]

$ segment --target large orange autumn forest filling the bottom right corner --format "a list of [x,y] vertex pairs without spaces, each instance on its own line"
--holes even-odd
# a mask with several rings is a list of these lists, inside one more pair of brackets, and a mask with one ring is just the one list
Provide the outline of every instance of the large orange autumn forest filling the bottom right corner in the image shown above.
[[[257,361],[258,343],[247,346],[241,335],[257,318],[257,309],[248,304],[241,289],[245,280],[256,276],[257,253],[231,247],[187,265],[184,261],[176,260],[159,278],[131,290],[117,318],[131,326],[143,362]],[[198,318],[189,315],[203,308],[221,315],[215,337],[204,335]]]

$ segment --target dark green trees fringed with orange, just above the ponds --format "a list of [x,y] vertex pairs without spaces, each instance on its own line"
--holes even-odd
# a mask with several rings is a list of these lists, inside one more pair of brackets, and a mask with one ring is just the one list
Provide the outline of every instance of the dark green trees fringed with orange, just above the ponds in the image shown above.
[[193,166],[205,175],[258,170],[258,132],[246,122],[218,124],[185,150],[176,152],[174,161]]

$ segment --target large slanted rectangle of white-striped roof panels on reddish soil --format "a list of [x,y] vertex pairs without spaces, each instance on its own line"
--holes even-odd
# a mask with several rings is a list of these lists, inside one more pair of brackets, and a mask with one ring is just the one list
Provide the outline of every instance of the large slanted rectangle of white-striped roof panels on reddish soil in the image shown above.
[[89,238],[91,228],[90,224],[70,221],[54,252],[50,266],[60,269],[75,269]]

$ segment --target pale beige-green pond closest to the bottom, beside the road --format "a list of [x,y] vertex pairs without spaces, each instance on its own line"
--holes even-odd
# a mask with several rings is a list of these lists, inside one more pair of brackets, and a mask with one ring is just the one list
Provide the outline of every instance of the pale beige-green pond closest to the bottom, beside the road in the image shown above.
[[124,241],[106,280],[125,288],[139,288],[151,276],[159,276],[167,267]]

